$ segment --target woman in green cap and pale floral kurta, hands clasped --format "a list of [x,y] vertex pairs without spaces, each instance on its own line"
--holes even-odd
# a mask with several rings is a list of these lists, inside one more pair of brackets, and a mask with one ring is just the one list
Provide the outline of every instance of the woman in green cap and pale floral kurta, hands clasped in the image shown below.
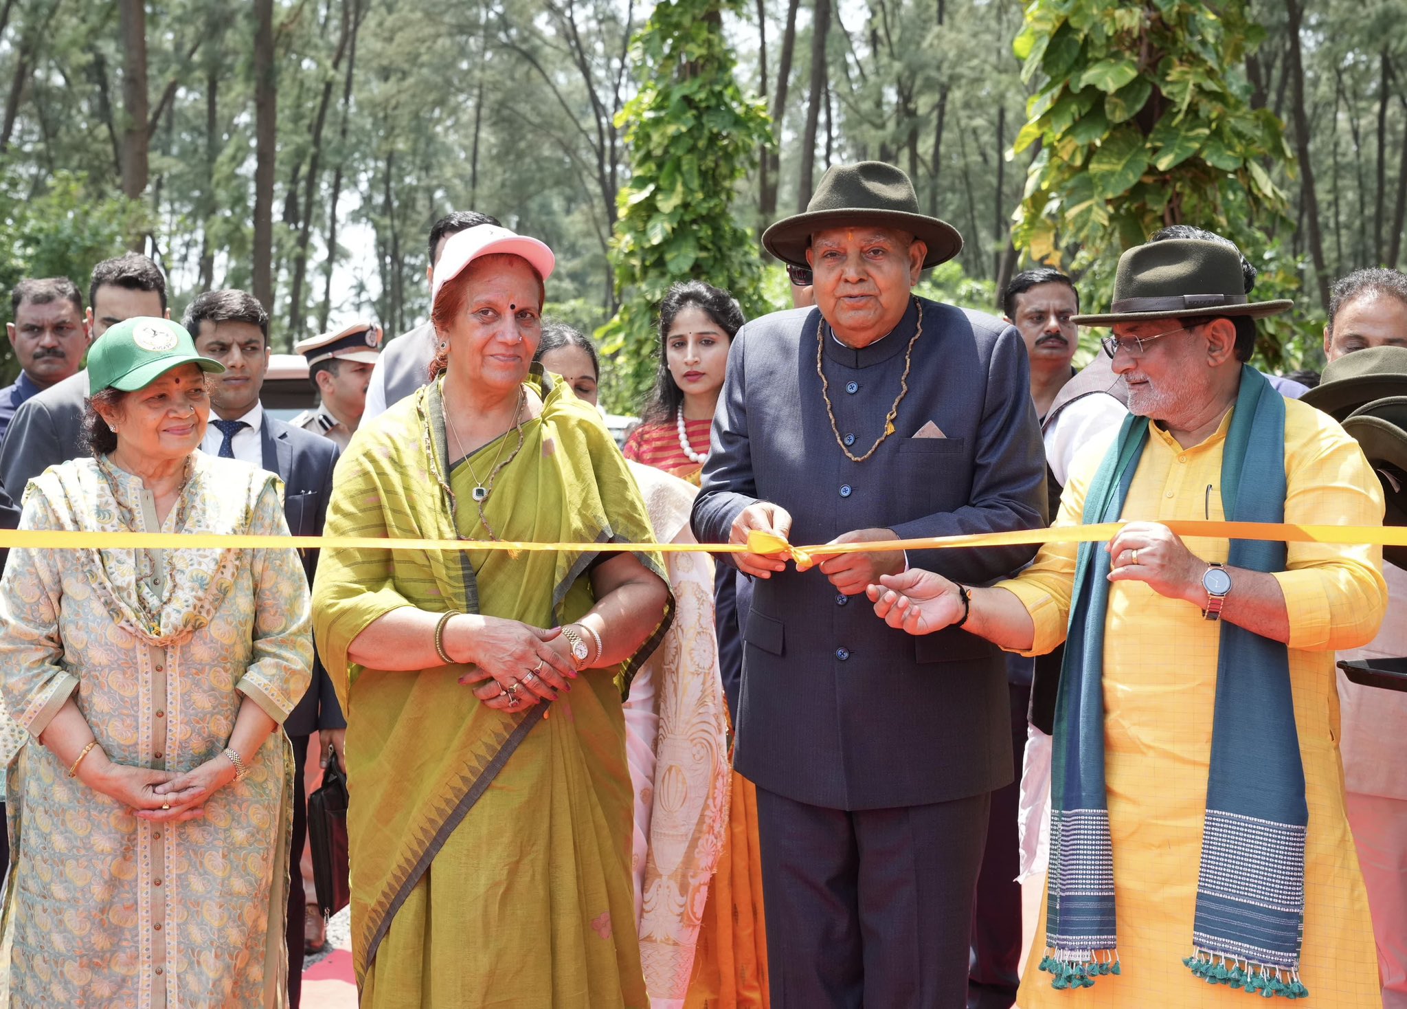
[[0,581],[14,719],[0,764],[14,759],[24,830],[3,941],[24,950],[20,1005],[287,999],[279,726],[312,664],[303,566],[284,547],[122,542],[288,535],[276,476],[198,450],[205,373],[222,370],[169,319],[113,326],[87,360],[91,457],[25,494],[21,529],[107,542],[14,549]]

